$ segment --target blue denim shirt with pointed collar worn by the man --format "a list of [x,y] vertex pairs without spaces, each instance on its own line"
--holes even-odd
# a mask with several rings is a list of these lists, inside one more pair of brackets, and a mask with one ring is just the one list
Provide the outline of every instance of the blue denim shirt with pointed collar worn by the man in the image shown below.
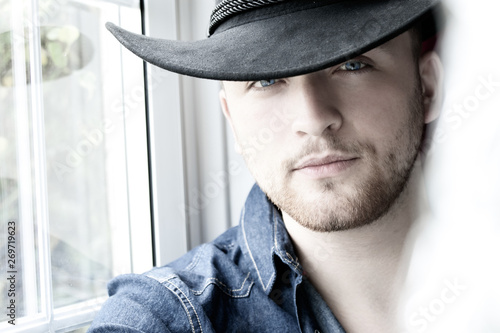
[[88,332],[344,332],[258,186],[239,226],[167,266],[118,276],[108,289]]

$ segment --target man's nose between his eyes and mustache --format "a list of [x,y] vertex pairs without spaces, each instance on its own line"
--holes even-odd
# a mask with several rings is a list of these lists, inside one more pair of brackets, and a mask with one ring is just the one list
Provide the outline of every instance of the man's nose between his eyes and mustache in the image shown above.
[[338,131],[343,119],[334,95],[329,83],[321,78],[311,76],[304,79],[291,97],[291,107],[296,115],[292,124],[294,133],[321,136],[326,131]]

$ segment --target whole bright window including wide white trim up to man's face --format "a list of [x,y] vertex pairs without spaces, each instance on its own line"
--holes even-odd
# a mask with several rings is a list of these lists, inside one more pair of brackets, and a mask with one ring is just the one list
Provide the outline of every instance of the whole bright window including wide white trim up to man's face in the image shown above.
[[201,39],[212,6],[0,0],[2,332],[83,332],[112,277],[238,223],[253,180],[218,82],[144,66],[104,27]]

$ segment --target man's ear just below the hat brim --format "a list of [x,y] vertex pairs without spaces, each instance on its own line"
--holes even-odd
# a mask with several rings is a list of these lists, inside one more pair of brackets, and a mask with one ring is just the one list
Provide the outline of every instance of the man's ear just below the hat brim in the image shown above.
[[424,95],[425,123],[428,124],[441,112],[444,77],[441,58],[434,51],[427,52],[420,57],[419,69]]

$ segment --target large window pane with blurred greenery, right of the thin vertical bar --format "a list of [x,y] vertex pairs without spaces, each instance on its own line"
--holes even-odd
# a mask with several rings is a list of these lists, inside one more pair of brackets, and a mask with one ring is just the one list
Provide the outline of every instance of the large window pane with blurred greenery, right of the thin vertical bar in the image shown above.
[[104,296],[112,276],[100,14],[67,4],[40,28],[55,307]]

